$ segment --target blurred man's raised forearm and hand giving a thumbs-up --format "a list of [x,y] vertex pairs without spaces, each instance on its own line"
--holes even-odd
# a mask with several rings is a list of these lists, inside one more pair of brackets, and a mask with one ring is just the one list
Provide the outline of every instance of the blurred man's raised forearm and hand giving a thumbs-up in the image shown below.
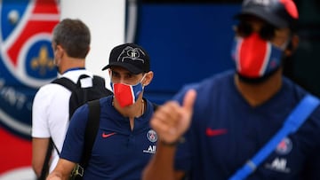
[[158,136],[156,154],[144,169],[143,180],[174,180],[184,176],[185,173],[174,170],[174,154],[176,142],[190,126],[195,99],[196,90],[188,90],[182,106],[169,101],[154,113],[150,125]]

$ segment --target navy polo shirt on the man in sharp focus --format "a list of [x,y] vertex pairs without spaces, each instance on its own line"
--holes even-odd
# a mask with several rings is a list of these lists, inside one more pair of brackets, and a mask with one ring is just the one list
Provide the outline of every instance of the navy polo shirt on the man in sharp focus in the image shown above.
[[[142,169],[156,153],[156,132],[149,126],[153,105],[147,100],[146,112],[134,120],[134,129],[112,106],[112,96],[101,98],[100,108],[100,128],[84,179],[140,179]],[[60,158],[80,161],[87,119],[88,106],[79,107],[70,120]]]

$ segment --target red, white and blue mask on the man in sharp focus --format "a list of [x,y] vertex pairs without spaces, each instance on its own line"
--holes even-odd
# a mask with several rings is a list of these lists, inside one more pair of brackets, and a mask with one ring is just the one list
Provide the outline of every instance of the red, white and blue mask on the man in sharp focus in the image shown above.
[[141,81],[135,85],[110,82],[114,96],[121,107],[131,106],[137,101],[137,98],[139,98],[139,95],[143,90],[141,82],[144,77],[145,76],[143,76]]

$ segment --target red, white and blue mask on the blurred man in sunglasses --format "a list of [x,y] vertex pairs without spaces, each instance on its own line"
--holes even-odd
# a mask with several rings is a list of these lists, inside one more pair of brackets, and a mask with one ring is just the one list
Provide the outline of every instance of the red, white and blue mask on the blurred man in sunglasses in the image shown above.
[[236,37],[231,51],[236,72],[252,79],[263,78],[280,67],[283,52],[257,33]]

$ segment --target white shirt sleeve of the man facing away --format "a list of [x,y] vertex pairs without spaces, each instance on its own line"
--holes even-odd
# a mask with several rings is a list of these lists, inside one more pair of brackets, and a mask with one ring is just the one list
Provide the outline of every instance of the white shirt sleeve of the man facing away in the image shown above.
[[36,92],[32,106],[32,137],[52,137],[59,147],[68,128],[70,91],[59,84],[46,84]]

